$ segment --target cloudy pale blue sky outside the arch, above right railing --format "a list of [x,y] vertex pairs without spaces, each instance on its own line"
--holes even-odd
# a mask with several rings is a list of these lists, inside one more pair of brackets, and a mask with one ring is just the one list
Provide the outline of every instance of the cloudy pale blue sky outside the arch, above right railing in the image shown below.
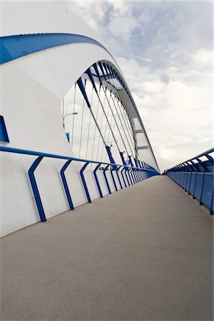
[[211,2],[72,1],[67,6],[118,61],[161,170],[213,146]]

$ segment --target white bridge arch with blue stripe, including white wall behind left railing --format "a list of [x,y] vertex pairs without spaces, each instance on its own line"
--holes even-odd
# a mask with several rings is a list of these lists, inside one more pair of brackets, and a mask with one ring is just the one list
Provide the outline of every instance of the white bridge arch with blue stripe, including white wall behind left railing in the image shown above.
[[[159,172],[128,84],[87,24],[56,2],[5,1],[1,17],[1,146]],[[2,234],[39,220],[26,178],[33,155],[1,155]],[[44,159],[35,173],[46,217],[67,209],[58,180],[62,165]],[[69,166],[79,188],[74,205],[85,203],[79,166]]]

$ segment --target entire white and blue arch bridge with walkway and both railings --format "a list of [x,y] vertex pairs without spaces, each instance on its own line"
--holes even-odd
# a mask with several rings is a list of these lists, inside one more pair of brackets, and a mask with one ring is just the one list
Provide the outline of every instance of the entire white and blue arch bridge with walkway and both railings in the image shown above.
[[161,175],[85,22],[1,16],[1,320],[212,320],[214,149]]

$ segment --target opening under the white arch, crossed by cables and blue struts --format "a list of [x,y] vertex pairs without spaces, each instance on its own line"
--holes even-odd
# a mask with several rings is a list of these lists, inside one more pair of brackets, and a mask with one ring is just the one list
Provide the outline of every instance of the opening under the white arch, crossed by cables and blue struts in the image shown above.
[[62,118],[79,157],[158,170],[141,117],[115,64],[98,61],[78,78],[63,100]]

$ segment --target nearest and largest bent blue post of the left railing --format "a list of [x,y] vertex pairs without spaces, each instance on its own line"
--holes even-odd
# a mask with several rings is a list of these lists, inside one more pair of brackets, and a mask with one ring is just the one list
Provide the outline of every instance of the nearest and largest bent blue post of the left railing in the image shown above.
[[44,208],[41,203],[41,197],[39,195],[39,188],[36,184],[36,179],[34,176],[34,171],[36,170],[37,166],[39,165],[39,163],[42,161],[43,158],[44,158],[44,156],[39,156],[38,158],[36,158],[34,163],[31,165],[31,167],[29,168],[29,179],[31,182],[31,188],[34,193],[34,199],[36,200],[36,206],[39,211],[40,220],[41,220],[41,222],[46,222],[46,215],[44,213]]

